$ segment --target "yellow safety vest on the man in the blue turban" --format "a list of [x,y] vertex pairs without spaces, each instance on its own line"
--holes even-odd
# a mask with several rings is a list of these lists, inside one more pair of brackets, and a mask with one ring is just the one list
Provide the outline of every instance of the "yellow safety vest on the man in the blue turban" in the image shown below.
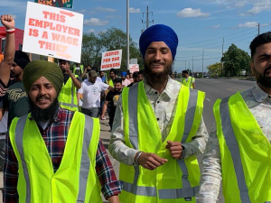
[[132,88],[124,88],[122,105],[126,145],[143,152],[154,152],[168,161],[154,171],[121,163],[121,202],[195,202],[194,197],[200,182],[200,168],[196,156],[174,160],[165,146],[168,140],[191,142],[201,123],[204,97],[203,92],[182,86],[170,134],[162,142],[162,135],[154,110],[145,95],[143,82],[136,83]]

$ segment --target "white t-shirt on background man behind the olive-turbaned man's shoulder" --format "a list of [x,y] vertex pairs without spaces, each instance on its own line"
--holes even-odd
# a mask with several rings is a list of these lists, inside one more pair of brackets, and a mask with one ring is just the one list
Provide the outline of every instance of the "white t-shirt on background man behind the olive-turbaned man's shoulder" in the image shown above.
[[108,85],[103,82],[96,81],[95,83],[83,81],[79,94],[83,95],[83,108],[100,107],[100,93],[107,90]]

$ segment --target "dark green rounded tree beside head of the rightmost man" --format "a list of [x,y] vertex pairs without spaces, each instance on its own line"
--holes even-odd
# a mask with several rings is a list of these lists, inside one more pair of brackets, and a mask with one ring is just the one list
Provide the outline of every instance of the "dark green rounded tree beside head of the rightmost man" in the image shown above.
[[229,46],[229,50],[223,54],[221,62],[224,63],[225,76],[236,77],[242,69],[249,69],[250,57],[248,52],[238,49],[235,44]]

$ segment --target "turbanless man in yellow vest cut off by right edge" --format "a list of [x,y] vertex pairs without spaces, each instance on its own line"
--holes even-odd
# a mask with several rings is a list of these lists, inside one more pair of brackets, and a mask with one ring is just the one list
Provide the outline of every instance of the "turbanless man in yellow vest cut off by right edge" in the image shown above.
[[226,203],[271,201],[271,32],[257,35],[250,50],[257,81],[213,106],[197,202],[217,202],[221,180]]

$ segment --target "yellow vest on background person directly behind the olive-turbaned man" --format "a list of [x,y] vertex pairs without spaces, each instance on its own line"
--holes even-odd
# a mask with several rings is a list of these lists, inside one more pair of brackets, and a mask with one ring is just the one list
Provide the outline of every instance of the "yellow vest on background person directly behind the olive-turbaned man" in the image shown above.
[[[78,75],[75,75],[75,77],[77,78]],[[61,88],[59,103],[62,108],[66,108],[70,111],[78,111],[76,87],[71,78],[69,78],[66,84],[63,84]]]

